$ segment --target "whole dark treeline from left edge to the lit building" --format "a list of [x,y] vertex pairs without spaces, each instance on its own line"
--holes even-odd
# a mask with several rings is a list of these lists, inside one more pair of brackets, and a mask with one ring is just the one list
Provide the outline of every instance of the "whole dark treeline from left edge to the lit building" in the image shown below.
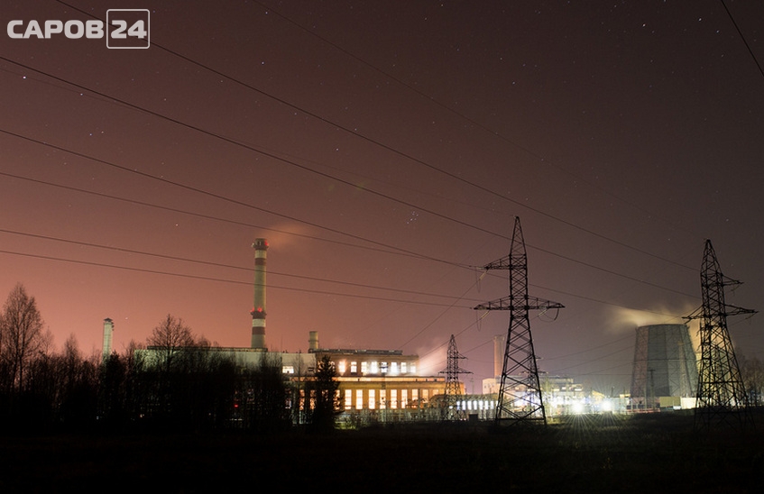
[[173,316],[146,343],[104,359],[82,355],[70,337],[53,352],[34,297],[17,285],[0,314],[0,434],[278,432],[310,427],[314,415],[314,426],[327,425],[326,407],[314,413],[304,396],[326,395],[317,387],[334,386],[331,370],[321,374],[325,384],[288,380],[278,355],[267,354],[244,368]]

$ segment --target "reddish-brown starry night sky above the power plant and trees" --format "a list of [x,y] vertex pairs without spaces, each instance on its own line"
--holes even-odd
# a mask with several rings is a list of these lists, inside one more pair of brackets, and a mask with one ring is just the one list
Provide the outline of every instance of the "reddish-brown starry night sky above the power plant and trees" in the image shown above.
[[[476,267],[515,216],[565,306],[531,313],[541,370],[628,390],[635,327],[700,306],[705,239],[764,309],[757,1],[0,5],[0,297],[22,282],[58,348],[169,313],[248,347],[265,237],[271,350],[437,373],[455,334],[480,392],[509,313],[472,307],[508,281]],[[5,31],[107,8],[150,9],[151,47]],[[730,332],[764,358],[760,316]]]

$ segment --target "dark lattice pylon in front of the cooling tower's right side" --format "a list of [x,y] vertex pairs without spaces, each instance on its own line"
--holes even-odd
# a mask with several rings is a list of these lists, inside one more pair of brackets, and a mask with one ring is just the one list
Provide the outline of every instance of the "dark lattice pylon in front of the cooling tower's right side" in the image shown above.
[[700,273],[703,306],[687,319],[700,319],[700,370],[698,372],[695,429],[713,425],[740,425],[750,422],[748,398],[741,377],[727,316],[756,311],[730,306],[724,301],[724,287],[741,282],[722,274],[710,240],[705,241]]

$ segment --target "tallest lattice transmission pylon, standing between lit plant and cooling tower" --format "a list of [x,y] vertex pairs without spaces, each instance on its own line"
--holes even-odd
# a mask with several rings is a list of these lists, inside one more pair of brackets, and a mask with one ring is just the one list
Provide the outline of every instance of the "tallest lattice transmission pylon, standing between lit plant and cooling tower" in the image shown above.
[[533,349],[528,313],[529,310],[546,311],[564,306],[528,295],[528,256],[525,252],[525,241],[522,238],[520,217],[515,217],[510,255],[499,261],[493,261],[483,269],[510,271],[509,297],[502,297],[474,307],[475,310],[510,311],[510,326],[507,330],[495,420],[497,423],[541,421],[546,425],[547,414],[541,397],[536,352]]

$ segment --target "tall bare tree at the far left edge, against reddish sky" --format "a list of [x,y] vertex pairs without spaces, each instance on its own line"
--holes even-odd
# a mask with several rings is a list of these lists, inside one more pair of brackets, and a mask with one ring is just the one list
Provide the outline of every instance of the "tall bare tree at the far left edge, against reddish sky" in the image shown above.
[[46,352],[50,335],[43,332],[43,322],[34,297],[18,283],[11,290],[0,314],[0,361],[6,370],[6,386],[23,389],[25,371],[39,352]]

